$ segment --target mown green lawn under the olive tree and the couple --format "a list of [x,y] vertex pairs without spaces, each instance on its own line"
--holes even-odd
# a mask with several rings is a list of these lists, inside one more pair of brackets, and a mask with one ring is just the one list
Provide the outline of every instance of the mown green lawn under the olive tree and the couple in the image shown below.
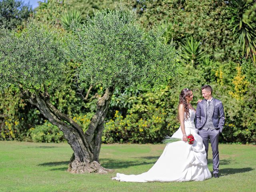
[[[146,172],[156,162],[164,144],[102,145],[100,162],[106,168],[125,174]],[[202,182],[131,183],[111,180],[111,174],[70,174],[66,171],[72,154],[66,143],[0,141],[0,191],[232,191],[256,188],[256,146],[220,144],[220,178]],[[212,156],[209,150],[209,169]]]

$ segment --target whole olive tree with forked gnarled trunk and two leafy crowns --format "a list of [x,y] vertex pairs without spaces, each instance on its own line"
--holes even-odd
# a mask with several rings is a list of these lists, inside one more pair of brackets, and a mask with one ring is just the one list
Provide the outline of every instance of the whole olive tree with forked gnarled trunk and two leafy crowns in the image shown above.
[[[86,132],[50,101],[51,92],[65,78],[66,54],[58,32],[34,22],[18,36],[2,29],[0,84],[18,86],[23,98],[64,133],[74,152],[68,171],[107,173],[111,170],[99,164],[99,154],[104,118],[114,90],[128,86],[156,89],[173,80],[178,75],[178,51],[173,43],[162,43],[162,33],[141,29],[134,12],[122,7],[96,12],[85,24],[73,24],[72,30],[69,56],[78,62],[78,83],[86,90],[84,102],[96,100]],[[96,85],[104,88],[103,95],[91,96]]]

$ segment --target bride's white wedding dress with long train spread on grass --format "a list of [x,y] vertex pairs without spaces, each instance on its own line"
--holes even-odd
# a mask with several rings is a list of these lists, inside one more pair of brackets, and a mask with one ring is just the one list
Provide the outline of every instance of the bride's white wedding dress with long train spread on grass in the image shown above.
[[[148,172],[139,175],[117,173],[113,180],[125,182],[171,182],[202,181],[211,178],[207,167],[206,152],[202,138],[197,134],[194,124],[195,112],[189,110],[190,118],[185,120],[186,134],[193,134],[194,144],[177,141],[168,143],[164,152]],[[182,138],[179,128],[172,137]]]

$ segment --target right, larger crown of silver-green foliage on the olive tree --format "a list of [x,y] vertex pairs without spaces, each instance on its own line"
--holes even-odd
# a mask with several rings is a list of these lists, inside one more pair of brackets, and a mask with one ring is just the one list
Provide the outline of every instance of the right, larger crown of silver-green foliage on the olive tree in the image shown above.
[[156,89],[178,75],[174,43],[164,44],[162,31],[141,29],[135,13],[122,6],[95,12],[85,24],[74,25],[73,34],[70,52],[86,84]]

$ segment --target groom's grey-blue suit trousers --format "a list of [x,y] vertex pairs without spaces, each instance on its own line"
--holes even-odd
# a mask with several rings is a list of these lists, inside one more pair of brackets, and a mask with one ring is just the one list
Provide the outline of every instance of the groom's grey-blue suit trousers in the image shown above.
[[213,174],[218,173],[219,172],[219,164],[220,164],[219,148],[218,148],[220,132],[216,129],[214,129],[214,130],[208,129],[207,131],[204,129],[200,129],[200,130],[198,130],[198,134],[203,139],[207,161],[208,161],[208,148],[209,148],[209,139],[210,139],[211,147],[212,147]]

